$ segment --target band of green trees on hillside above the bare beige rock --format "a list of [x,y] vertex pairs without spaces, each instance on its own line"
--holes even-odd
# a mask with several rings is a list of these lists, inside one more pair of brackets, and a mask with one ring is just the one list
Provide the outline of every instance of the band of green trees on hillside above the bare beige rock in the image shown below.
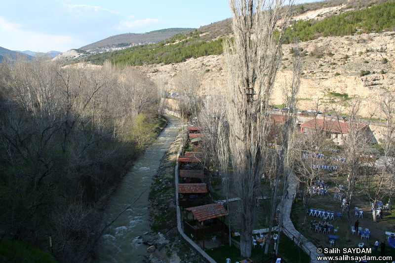
[[[327,2],[321,2],[326,6]],[[319,37],[345,36],[368,32],[391,31],[395,28],[395,2],[377,5],[350,2],[337,15],[309,20],[294,20],[286,33],[288,42],[308,41]],[[309,5],[295,8],[295,14],[306,12]],[[360,7],[364,7],[361,8]],[[87,60],[102,64],[105,60],[121,65],[178,63],[188,58],[222,53],[222,37],[232,34],[230,20],[200,28],[188,34],[181,33],[157,44],[140,45],[115,52],[90,56]]]

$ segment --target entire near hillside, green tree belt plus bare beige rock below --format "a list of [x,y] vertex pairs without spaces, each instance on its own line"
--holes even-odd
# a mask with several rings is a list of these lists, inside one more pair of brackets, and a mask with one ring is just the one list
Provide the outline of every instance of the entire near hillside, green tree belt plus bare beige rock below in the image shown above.
[[[320,110],[345,112],[346,102],[360,96],[363,108],[360,113],[368,116],[377,108],[373,102],[377,103],[385,91],[395,91],[395,2],[308,3],[296,7],[294,21],[289,39],[304,40],[299,43],[304,56],[298,95],[300,109],[320,104]],[[165,76],[168,91],[177,91],[173,77],[181,68],[189,68],[204,73],[200,95],[221,93],[216,88],[225,83],[221,41],[231,34],[227,19],[157,44],[84,59],[96,64],[109,59],[116,64],[135,65],[154,80]],[[284,102],[281,86],[292,75],[293,48],[296,48],[293,44],[283,45],[274,105]]]

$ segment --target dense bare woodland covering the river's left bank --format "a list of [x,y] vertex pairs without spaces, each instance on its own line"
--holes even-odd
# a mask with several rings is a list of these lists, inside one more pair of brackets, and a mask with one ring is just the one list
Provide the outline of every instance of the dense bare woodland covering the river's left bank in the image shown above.
[[[83,262],[107,227],[98,206],[163,120],[138,71],[62,66],[1,65],[0,242],[50,251],[51,236],[58,261]],[[24,257],[0,245],[1,262]]]

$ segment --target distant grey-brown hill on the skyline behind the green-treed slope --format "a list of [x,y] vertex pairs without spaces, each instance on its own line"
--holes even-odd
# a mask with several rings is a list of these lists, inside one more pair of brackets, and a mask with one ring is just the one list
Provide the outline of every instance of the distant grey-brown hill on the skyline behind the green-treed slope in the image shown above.
[[157,43],[161,40],[171,38],[174,35],[190,30],[192,30],[192,28],[169,28],[141,34],[120,34],[82,46],[79,49],[91,52],[93,54],[99,52],[115,51],[135,45]]

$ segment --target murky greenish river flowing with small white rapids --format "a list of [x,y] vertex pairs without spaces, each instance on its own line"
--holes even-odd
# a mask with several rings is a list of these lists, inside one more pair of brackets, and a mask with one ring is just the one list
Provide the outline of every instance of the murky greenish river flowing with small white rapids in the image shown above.
[[[180,129],[180,120],[167,115],[169,120],[166,128],[158,139],[134,162],[134,167],[125,175],[117,191],[111,196],[104,211],[104,218],[113,220],[124,205],[146,190],[140,198],[127,209],[116,222],[110,233],[103,236],[100,263],[142,263],[147,255],[147,245],[144,245],[143,234],[150,232],[148,194],[153,176],[157,173],[159,163]],[[134,197],[133,197],[134,196]],[[148,237],[146,237],[148,239]]]

